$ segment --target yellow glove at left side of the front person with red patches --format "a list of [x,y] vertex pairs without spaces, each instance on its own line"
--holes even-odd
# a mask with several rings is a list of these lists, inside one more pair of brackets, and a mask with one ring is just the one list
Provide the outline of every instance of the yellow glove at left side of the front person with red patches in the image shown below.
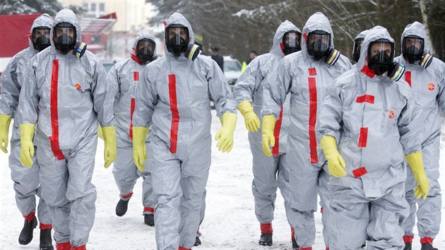
[[337,150],[337,141],[333,136],[323,136],[320,142],[323,148],[324,156],[328,160],[328,172],[334,177],[345,177],[345,160],[341,157]]

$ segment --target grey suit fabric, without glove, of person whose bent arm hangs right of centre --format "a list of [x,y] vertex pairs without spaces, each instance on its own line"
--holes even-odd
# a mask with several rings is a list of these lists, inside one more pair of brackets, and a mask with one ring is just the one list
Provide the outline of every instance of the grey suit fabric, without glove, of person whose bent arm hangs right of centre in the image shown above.
[[[267,54],[257,56],[251,61],[242,76],[238,78],[233,95],[237,105],[240,102],[248,100],[254,107],[255,114],[262,120],[261,108],[263,106],[263,80],[269,73],[275,70],[278,61],[285,56],[283,53],[283,35],[285,32],[295,30],[301,33],[301,30],[293,25],[290,21],[285,20],[280,24],[273,37],[273,45],[271,51]],[[274,83],[271,83],[274,84]],[[273,210],[275,208],[275,198],[277,191],[277,172],[278,174],[286,174],[280,180],[289,179],[288,170],[281,171],[285,165],[286,147],[287,147],[287,126],[289,125],[289,103],[283,105],[283,112],[280,113],[280,119],[275,123],[278,133],[275,135],[278,140],[275,141],[277,146],[273,149],[273,157],[267,157],[263,153],[261,147],[261,129],[256,132],[249,132],[250,150],[253,156],[252,171],[254,172],[254,180],[252,181],[252,192],[255,198],[255,215],[260,223],[269,223],[273,220]],[[289,186],[288,184],[280,184],[281,187]],[[282,191],[283,192],[283,191]],[[289,193],[290,191],[287,191]],[[287,207],[287,196],[285,197],[285,206]],[[287,211],[287,209],[286,209]]]

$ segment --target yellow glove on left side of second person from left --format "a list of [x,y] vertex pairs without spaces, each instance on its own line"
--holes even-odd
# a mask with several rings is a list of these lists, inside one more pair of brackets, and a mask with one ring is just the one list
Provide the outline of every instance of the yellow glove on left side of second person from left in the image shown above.
[[25,167],[32,167],[32,156],[34,156],[34,144],[32,138],[34,137],[35,124],[21,124],[20,125],[20,162]]

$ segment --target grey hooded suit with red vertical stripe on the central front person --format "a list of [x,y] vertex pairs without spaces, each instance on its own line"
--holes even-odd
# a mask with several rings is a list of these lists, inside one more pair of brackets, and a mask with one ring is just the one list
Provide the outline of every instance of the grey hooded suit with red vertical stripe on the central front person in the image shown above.
[[[184,16],[173,13],[165,23],[187,27],[189,44],[194,43]],[[184,54],[173,56],[167,47],[165,53],[143,71],[133,126],[152,123],[149,144],[153,151],[148,157],[154,166],[156,243],[158,249],[176,250],[194,245],[200,222],[210,167],[210,99],[218,117],[225,112],[236,114],[237,108],[223,72],[210,57],[198,55],[190,61]]]

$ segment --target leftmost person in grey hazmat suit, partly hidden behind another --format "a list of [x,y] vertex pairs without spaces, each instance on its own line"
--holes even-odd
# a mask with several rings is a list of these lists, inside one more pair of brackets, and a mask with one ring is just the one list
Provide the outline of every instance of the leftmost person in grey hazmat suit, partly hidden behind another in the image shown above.
[[20,90],[23,84],[28,83],[26,81],[26,67],[32,56],[49,47],[49,30],[52,27],[52,21],[52,17],[46,13],[34,20],[28,37],[29,47],[13,56],[0,76],[0,149],[4,153],[8,153],[6,148],[8,148],[9,125],[11,119],[14,118],[9,167],[11,168],[11,179],[14,181],[14,191],[16,191],[16,204],[23,218],[25,218],[18,242],[26,245],[32,240],[32,232],[37,227],[35,196],[38,196],[37,217],[40,222],[40,249],[45,250],[53,249],[51,240],[52,223],[47,203],[41,196],[40,166],[36,157],[32,157],[32,165],[35,167],[23,167],[20,164],[20,131],[15,116]]

